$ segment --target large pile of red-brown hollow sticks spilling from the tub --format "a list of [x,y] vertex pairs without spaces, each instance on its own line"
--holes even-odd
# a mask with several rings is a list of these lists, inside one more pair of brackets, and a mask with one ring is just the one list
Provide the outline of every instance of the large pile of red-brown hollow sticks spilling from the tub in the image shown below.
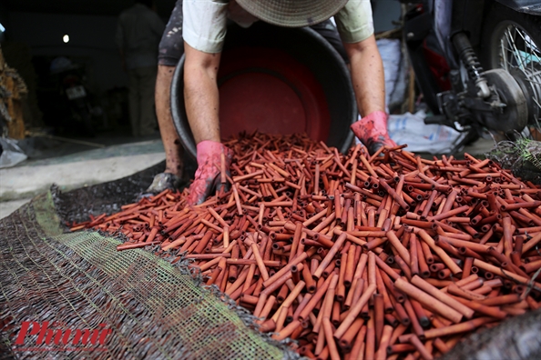
[[165,191],[72,230],[177,250],[308,357],[432,359],[539,307],[541,189],[492,161],[341,155],[301,135],[226,145],[229,192],[189,207]]

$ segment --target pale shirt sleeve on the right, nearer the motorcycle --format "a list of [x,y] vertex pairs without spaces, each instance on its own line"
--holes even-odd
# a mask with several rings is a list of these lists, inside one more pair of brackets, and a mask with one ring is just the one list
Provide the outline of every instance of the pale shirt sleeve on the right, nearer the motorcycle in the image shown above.
[[349,0],[334,20],[344,43],[358,43],[373,35],[370,0]]

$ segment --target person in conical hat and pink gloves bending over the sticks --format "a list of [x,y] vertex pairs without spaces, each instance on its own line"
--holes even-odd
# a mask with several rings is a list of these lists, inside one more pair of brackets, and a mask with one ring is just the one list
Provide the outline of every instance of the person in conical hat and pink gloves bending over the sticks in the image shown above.
[[[329,31],[332,16],[343,47],[337,44],[338,36]],[[186,56],[184,100],[197,144],[198,162],[195,179],[189,187],[189,205],[202,203],[214,191],[219,177],[216,165],[220,164],[221,154],[225,155],[229,168],[232,152],[220,143],[217,85],[228,17],[243,27],[262,20],[287,27],[311,26],[319,31],[349,60],[353,90],[362,115],[362,119],[351,126],[354,135],[371,154],[383,145],[395,145],[387,133],[383,63],[373,35],[369,0],[179,0],[158,53],[156,104],[166,151],[166,170],[155,177],[148,191],[174,188],[182,174],[183,150],[169,102],[172,76],[183,50]]]

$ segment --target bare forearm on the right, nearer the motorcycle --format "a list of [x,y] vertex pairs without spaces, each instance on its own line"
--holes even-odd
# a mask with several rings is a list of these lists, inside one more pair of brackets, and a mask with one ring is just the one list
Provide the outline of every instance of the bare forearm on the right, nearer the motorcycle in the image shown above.
[[385,111],[385,79],[382,56],[372,35],[355,44],[345,44],[350,57],[352,84],[362,116]]

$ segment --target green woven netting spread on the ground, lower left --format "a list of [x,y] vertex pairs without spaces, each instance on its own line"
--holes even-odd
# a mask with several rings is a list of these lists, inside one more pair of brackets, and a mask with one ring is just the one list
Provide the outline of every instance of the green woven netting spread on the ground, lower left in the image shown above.
[[[251,328],[250,315],[234,303],[197,284],[186,264],[170,265],[145,250],[117,252],[115,238],[63,234],[59,224],[50,193],[0,220],[0,354],[5,358],[292,355]],[[112,333],[103,346],[36,345],[38,335],[15,345],[24,321],[49,321],[74,332],[105,324]]]

